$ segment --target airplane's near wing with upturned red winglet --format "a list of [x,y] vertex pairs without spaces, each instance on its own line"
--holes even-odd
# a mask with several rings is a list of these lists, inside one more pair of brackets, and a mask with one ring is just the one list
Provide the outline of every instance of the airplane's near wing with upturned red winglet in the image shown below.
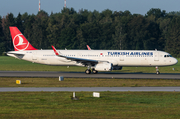
[[98,60],[92,60],[92,59],[83,59],[83,58],[77,58],[77,57],[68,57],[64,56],[62,54],[59,54],[54,46],[52,46],[54,53],[58,57],[64,57],[67,60],[76,61],[77,63],[82,63],[83,65],[91,65],[94,66],[95,64],[98,64],[99,62],[107,62],[107,61],[98,61]]

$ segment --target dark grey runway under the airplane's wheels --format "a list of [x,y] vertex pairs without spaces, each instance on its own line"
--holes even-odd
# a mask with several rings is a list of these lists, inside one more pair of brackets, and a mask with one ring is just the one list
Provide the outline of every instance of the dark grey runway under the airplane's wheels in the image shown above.
[[116,78],[116,79],[180,79],[180,73],[114,73],[100,72],[85,74],[84,72],[52,72],[52,71],[0,71],[0,77],[59,77],[64,78]]

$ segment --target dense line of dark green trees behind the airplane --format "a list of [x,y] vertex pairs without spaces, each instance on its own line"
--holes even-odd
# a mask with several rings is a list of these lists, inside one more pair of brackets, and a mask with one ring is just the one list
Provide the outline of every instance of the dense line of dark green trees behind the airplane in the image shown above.
[[102,12],[64,8],[59,13],[0,16],[0,54],[14,50],[9,26],[17,26],[37,49],[163,50],[180,57],[180,13],[150,9]]

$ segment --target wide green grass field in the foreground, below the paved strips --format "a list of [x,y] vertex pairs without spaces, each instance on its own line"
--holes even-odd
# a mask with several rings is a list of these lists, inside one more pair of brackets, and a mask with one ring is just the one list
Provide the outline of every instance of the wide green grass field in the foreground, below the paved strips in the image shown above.
[[178,119],[179,92],[4,92],[0,93],[0,117],[5,118],[123,118]]

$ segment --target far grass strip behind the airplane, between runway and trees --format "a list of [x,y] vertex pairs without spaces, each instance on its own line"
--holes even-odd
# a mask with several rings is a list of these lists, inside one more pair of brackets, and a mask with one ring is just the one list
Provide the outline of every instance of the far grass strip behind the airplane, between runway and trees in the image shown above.
[[[180,58],[178,58],[180,61]],[[174,68],[175,70],[172,70]],[[31,63],[24,60],[15,59],[8,56],[0,56],[1,71],[67,71],[67,72],[84,72],[86,67],[78,66],[48,66]],[[174,66],[159,67],[161,73],[180,73],[180,62]],[[133,73],[155,73],[155,67],[123,67],[122,70],[113,72],[133,72]]]

